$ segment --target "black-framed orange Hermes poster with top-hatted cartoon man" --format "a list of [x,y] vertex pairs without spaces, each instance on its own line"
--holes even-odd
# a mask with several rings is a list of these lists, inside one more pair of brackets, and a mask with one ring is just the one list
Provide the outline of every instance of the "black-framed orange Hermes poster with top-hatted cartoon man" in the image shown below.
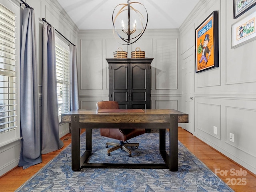
[[195,30],[196,73],[219,67],[218,11]]

